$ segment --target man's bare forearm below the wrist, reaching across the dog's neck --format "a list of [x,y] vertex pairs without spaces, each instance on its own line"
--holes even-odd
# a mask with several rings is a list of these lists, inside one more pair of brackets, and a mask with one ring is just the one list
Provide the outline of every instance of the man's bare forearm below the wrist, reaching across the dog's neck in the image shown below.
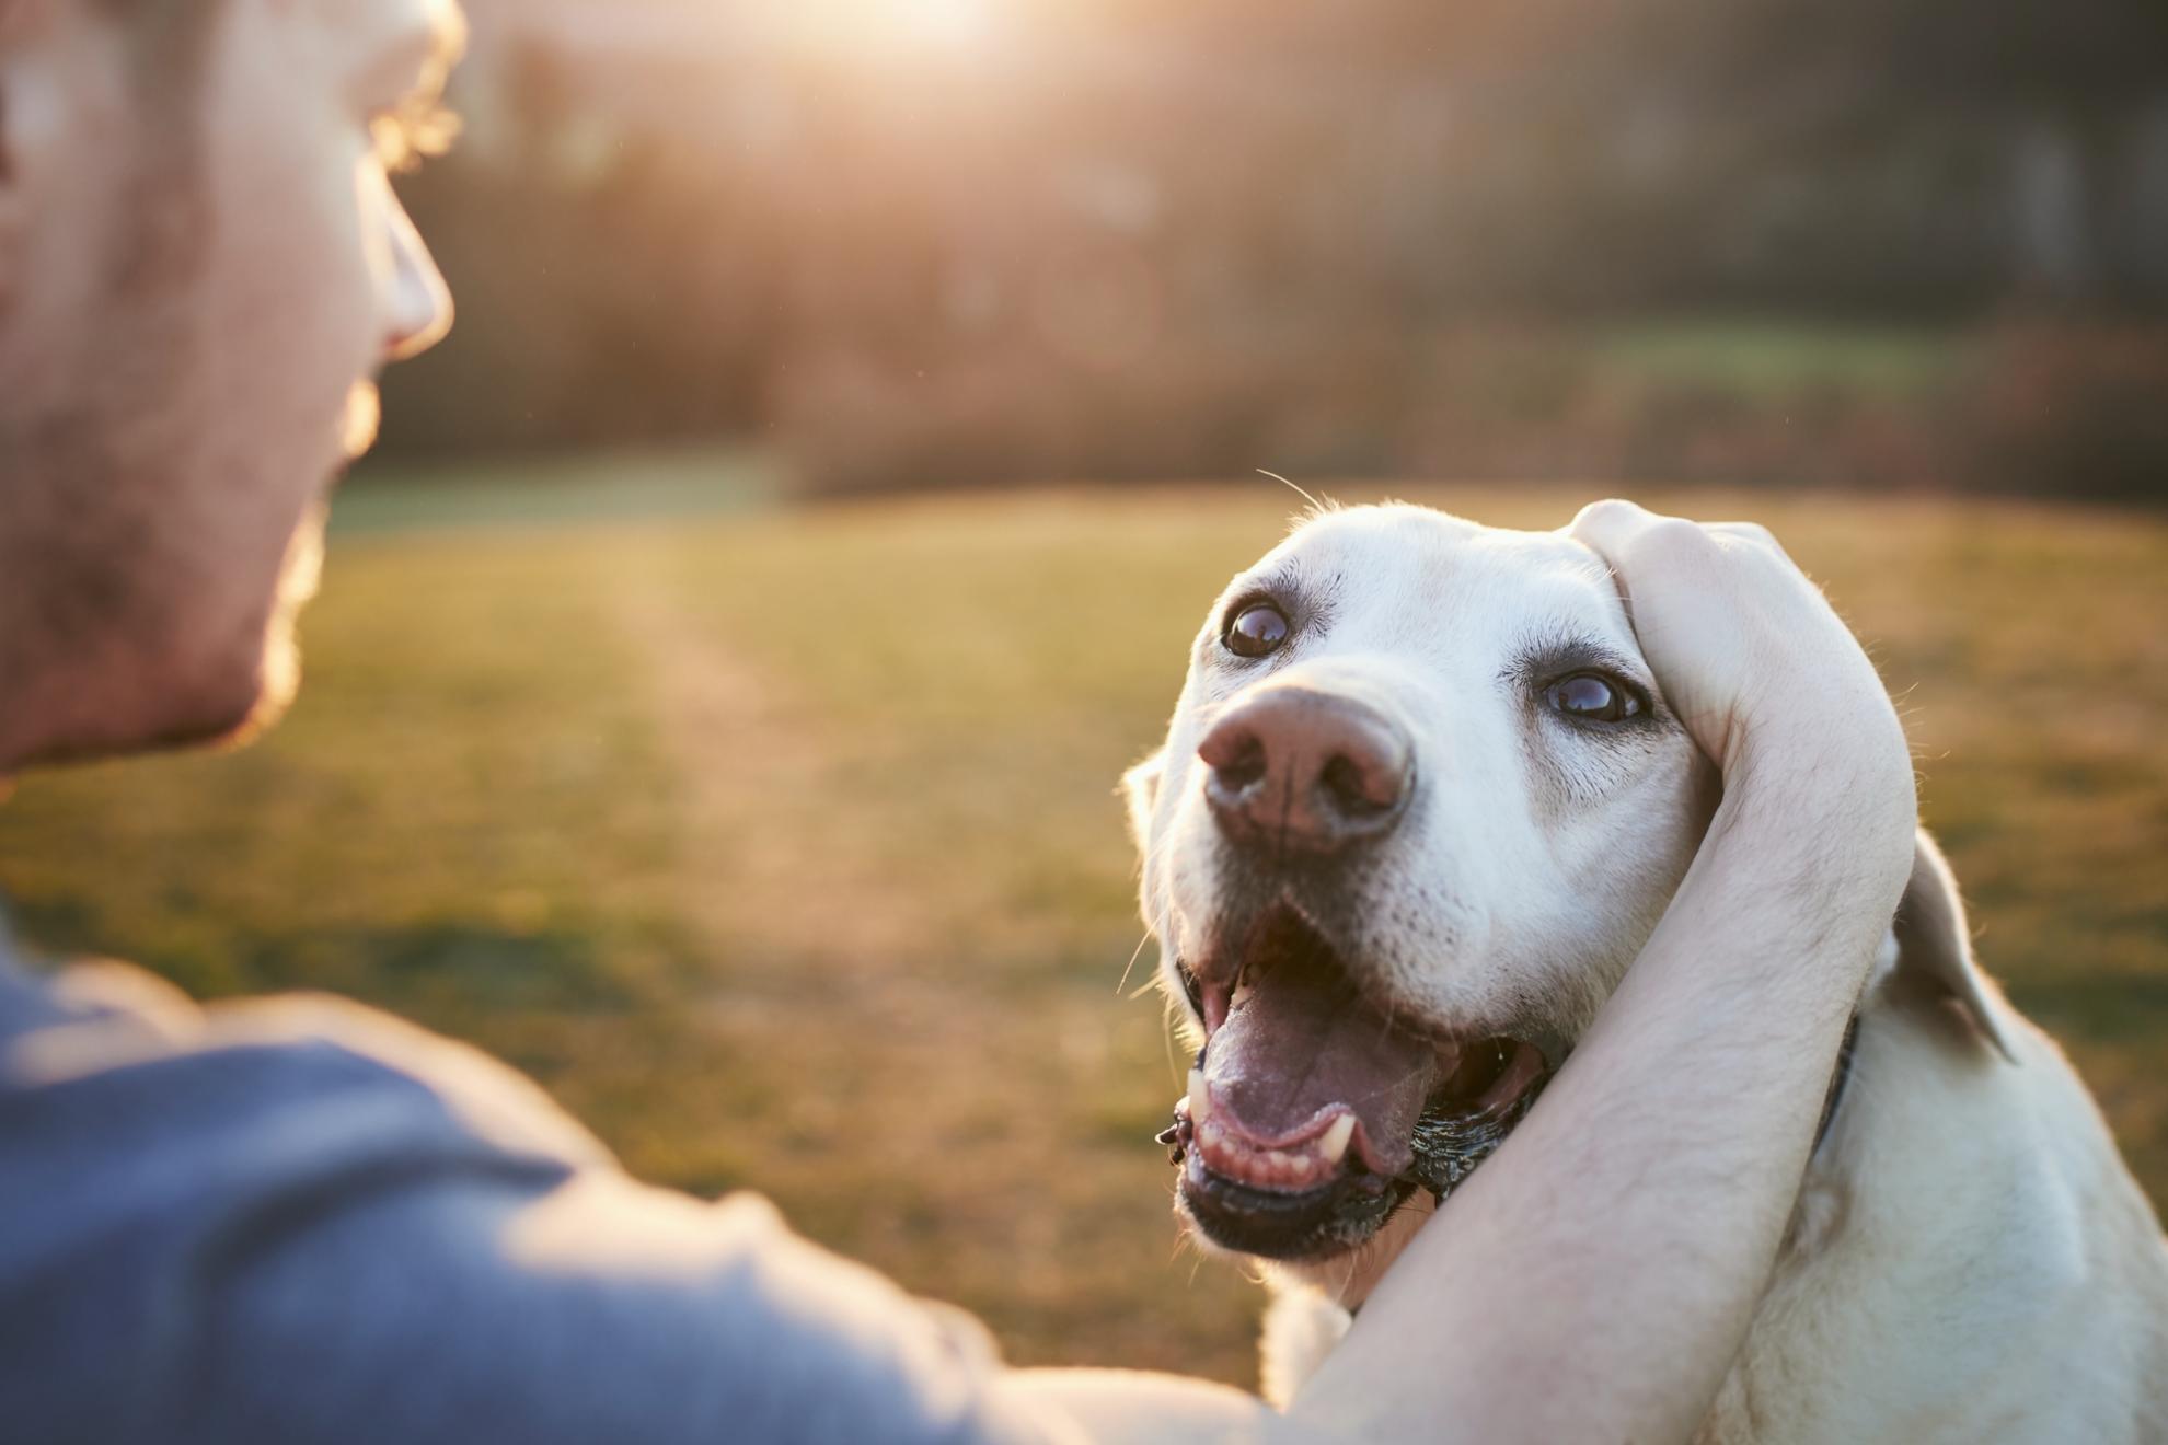
[[[1544,1101],[1414,1239],[1296,1415],[1370,1439],[1672,1441],[1706,1413],[1904,886],[1910,778],[1841,793],[1802,758],[1754,782]],[[1845,797],[1873,802],[1847,815]]]

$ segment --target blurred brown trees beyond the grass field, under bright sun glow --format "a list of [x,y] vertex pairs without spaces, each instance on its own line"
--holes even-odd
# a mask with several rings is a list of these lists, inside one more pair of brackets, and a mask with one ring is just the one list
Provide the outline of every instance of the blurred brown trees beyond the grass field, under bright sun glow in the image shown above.
[[[1956,392],[1817,381],[1873,438],[1825,466],[1763,438],[1797,396],[1576,338],[2168,308],[2161,0],[1038,0],[980,50],[822,4],[475,0],[475,147],[408,184],[462,323],[392,375],[392,451],[1919,472]],[[1544,381],[1468,405],[1500,338]]]

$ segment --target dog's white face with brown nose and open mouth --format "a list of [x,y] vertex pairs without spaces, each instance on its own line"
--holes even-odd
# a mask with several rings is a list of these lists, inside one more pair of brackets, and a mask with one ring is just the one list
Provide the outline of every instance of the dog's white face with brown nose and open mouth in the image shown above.
[[1162,984],[1203,1049],[1182,1207],[1322,1261],[1450,1189],[1648,940],[1715,808],[1602,561],[1329,511],[1234,578],[1130,776]]

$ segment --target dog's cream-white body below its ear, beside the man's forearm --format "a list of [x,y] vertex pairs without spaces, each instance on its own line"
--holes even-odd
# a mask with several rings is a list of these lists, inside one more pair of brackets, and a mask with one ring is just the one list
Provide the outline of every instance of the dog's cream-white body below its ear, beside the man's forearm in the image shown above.
[[1711,1441],[2168,1439],[2168,1259],[2055,1044],[1893,973]]

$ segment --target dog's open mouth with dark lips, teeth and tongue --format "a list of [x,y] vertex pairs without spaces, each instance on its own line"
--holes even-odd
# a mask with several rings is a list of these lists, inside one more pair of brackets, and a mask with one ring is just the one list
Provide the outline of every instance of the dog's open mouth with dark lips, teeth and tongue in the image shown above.
[[1550,1075],[1535,1044],[1396,1027],[1288,906],[1251,932],[1238,984],[1205,992],[1205,1049],[1162,1133],[1216,1244],[1338,1254],[1416,1189],[1448,1194]]

